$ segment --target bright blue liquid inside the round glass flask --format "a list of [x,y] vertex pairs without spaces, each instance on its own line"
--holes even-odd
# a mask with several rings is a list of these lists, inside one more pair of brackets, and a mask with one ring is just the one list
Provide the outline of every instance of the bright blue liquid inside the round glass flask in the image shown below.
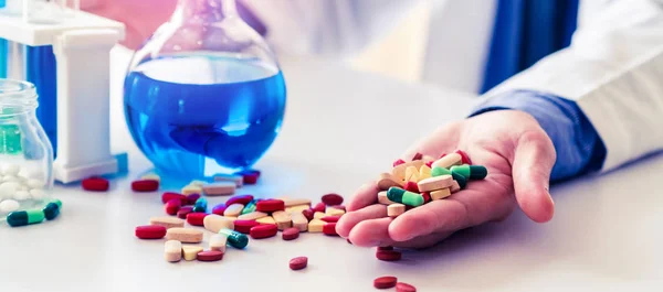
[[278,134],[286,89],[260,61],[168,56],[125,79],[127,123],[160,173],[209,177],[253,165]]

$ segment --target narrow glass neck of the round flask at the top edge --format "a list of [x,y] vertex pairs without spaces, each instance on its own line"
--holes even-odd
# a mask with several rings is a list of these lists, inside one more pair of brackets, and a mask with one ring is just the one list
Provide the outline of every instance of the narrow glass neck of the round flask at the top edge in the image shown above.
[[236,15],[235,0],[179,0],[171,21],[220,22]]

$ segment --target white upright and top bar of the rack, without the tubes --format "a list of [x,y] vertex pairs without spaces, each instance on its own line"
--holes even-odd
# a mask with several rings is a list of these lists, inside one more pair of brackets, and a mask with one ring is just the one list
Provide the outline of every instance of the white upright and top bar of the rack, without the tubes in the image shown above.
[[56,24],[31,24],[21,15],[0,14],[0,37],[53,46],[57,64],[55,180],[71,183],[117,173],[118,159],[110,153],[109,53],[125,37],[124,24],[77,10],[67,10],[67,18]]

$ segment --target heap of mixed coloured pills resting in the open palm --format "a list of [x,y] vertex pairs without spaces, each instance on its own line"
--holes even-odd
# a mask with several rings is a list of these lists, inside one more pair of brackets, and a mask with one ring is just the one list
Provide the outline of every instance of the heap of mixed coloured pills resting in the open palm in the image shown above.
[[390,173],[380,174],[378,202],[388,206],[389,217],[398,217],[408,209],[444,199],[465,188],[469,181],[483,180],[486,175],[486,167],[473,165],[461,150],[439,159],[417,153],[409,162],[393,162]]

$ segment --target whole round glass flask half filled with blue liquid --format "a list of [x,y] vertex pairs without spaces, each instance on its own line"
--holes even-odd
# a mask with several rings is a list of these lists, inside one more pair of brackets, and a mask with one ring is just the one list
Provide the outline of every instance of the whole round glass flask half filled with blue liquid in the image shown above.
[[131,136],[159,174],[203,179],[246,170],[267,151],[286,88],[234,0],[180,0],[135,53],[124,101]]

